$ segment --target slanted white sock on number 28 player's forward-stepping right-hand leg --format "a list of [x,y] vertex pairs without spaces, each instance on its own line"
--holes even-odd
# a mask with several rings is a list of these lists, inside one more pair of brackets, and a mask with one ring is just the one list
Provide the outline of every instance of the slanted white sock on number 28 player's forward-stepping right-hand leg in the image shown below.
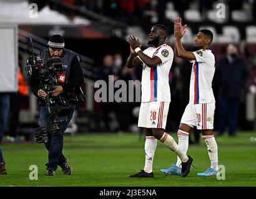
[[187,155],[182,152],[173,137],[166,132],[164,132],[163,136],[160,139],[160,142],[163,142],[165,146],[167,146],[170,150],[174,151],[175,154],[179,156],[182,162],[187,162],[187,160],[189,160],[189,157],[187,157]]

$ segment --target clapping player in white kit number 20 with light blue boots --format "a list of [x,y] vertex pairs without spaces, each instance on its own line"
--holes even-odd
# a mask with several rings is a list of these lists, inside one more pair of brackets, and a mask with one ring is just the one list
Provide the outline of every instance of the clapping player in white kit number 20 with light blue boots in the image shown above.
[[[207,145],[207,152],[210,157],[210,168],[205,172],[198,173],[199,176],[217,175],[218,169],[218,147],[214,138],[214,110],[215,98],[212,91],[212,79],[215,72],[215,58],[209,46],[213,39],[210,30],[200,30],[194,40],[197,47],[195,52],[187,52],[183,49],[180,39],[185,34],[186,25],[182,27],[181,18],[174,22],[175,48],[174,55],[192,62],[192,72],[190,78],[189,104],[185,108],[180,121],[179,147],[187,153],[189,147],[189,132],[193,127],[202,130],[202,139]],[[169,169],[161,169],[165,174],[180,175],[180,159],[177,157],[177,164],[172,164]]]

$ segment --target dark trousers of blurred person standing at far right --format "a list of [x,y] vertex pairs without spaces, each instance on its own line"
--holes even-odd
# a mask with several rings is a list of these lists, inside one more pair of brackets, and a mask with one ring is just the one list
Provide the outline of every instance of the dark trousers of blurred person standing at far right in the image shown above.
[[222,134],[227,124],[229,127],[229,135],[232,136],[235,134],[235,131],[237,131],[237,118],[240,101],[239,99],[229,99],[223,96],[219,96],[218,102],[218,123],[216,130]]

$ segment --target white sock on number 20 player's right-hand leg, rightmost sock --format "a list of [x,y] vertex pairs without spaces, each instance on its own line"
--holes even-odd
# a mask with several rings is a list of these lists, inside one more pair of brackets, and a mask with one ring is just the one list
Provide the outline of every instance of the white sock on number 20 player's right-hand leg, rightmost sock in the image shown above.
[[208,155],[210,157],[210,167],[214,170],[219,170],[218,168],[218,146],[215,141],[214,136],[202,136],[202,139],[204,139],[206,145],[207,145],[207,151]]

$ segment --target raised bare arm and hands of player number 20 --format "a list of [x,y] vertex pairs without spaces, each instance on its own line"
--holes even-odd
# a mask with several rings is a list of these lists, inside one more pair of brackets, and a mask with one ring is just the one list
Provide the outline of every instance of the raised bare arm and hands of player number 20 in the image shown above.
[[174,37],[175,37],[174,53],[175,53],[175,50],[177,50],[178,57],[184,58],[185,60],[195,60],[196,58],[194,53],[185,51],[180,41],[186,32],[185,30],[186,26],[187,25],[184,25],[184,27],[182,27],[180,17],[178,17],[174,22]]

